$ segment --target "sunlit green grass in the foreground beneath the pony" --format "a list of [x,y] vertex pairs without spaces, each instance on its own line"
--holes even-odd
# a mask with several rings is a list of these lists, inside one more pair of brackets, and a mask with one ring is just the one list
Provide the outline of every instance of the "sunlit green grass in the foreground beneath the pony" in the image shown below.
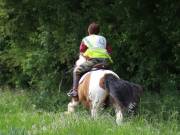
[[139,114],[117,126],[114,116],[106,112],[93,120],[83,109],[72,115],[61,111],[65,106],[45,111],[32,103],[26,91],[0,90],[0,135],[180,135],[176,95],[160,99],[145,94]]

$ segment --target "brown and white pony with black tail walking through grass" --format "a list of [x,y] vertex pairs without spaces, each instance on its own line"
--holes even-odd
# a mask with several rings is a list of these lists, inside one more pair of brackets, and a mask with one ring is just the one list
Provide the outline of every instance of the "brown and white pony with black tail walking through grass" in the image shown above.
[[[80,55],[76,66],[85,62]],[[105,105],[113,106],[116,115],[116,123],[123,121],[123,112],[134,114],[138,107],[142,86],[121,79],[116,73],[108,69],[98,69],[85,73],[78,86],[78,98],[72,97],[68,104],[68,113],[75,112],[75,107],[82,103],[90,109],[91,116],[96,118],[100,108]]]

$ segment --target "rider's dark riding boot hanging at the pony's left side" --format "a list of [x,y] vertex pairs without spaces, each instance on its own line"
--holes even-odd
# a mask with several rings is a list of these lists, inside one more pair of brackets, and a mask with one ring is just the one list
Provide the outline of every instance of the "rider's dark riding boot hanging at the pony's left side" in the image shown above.
[[73,88],[70,90],[68,93],[68,96],[71,97],[77,97],[78,96],[78,84],[81,76],[79,74],[76,74],[75,72],[73,73]]

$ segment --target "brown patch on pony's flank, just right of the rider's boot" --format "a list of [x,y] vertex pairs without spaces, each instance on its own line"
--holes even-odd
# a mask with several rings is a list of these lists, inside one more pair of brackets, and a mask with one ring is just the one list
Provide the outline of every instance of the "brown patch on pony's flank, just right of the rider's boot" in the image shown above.
[[88,73],[84,77],[84,80],[78,86],[79,101],[82,102],[83,105],[87,108],[90,108],[91,103],[91,101],[88,98],[90,77],[91,74]]

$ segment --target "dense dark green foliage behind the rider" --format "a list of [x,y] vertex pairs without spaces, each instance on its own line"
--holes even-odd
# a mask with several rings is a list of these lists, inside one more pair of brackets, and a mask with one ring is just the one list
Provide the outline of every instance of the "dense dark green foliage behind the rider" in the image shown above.
[[179,7],[177,0],[0,0],[0,85],[55,94],[97,21],[120,77],[152,91],[178,89]]

